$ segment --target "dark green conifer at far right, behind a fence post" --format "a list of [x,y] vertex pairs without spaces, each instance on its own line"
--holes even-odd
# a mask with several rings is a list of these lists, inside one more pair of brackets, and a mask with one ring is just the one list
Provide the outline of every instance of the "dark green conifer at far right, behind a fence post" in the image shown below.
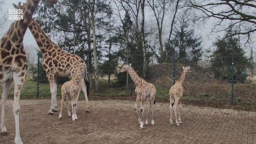
[[[228,29],[225,36],[234,33],[232,27]],[[217,48],[213,54],[209,56],[211,69],[214,72],[215,77],[224,80],[231,79],[231,65],[232,65],[232,51],[234,50],[234,80],[244,82],[247,75],[243,74],[247,68],[252,68],[253,65],[250,62],[250,58],[245,57],[245,52],[239,47],[239,41],[236,37],[217,38],[214,42],[214,46]],[[209,52],[209,51],[208,51]]]

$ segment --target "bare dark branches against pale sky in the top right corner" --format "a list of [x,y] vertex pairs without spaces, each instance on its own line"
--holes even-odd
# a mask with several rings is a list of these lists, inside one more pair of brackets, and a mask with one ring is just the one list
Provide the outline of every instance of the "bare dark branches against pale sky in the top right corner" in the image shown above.
[[[230,27],[241,30],[226,37],[250,34],[256,31],[255,0],[187,0],[187,6],[199,10],[196,20],[215,18],[212,32],[226,31]],[[225,37],[225,38],[226,38]]]

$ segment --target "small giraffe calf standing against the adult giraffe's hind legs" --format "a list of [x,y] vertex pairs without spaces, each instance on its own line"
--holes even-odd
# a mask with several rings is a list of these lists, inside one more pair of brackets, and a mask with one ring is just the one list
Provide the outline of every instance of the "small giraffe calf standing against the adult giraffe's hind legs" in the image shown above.
[[69,97],[71,99],[72,121],[75,121],[77,119],[76,108],[78,103],[78,97],[81,91],[80,78],[81,75],[84,75],[86,69],[86,64],[84,62],[77,62],[77,64],[78,68],[76,70],[75,76],[70,81],[67,81],[62,85],[62,102],[59,113],[59,119],[62,118],[62,108],[65,101],[68,108],[68,116],[71,116],[68,106]]

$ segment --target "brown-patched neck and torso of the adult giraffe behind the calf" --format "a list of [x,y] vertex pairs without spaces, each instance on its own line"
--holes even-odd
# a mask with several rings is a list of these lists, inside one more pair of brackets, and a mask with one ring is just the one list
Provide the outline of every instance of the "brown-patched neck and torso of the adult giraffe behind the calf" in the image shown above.
[[[32,18],[29,29],[39,46],[43,55],[43,68],[46,73],[61,77],[74,77],[77,70],[77,62],[84,63],[84,60],[78,55],[64,52],[55,44],[42,30],[41,26]],[[87,69],[85,70],[87,71]],[[85,73],[88,80],[87,73]],[[81,75],[84,78],[84,74]]]

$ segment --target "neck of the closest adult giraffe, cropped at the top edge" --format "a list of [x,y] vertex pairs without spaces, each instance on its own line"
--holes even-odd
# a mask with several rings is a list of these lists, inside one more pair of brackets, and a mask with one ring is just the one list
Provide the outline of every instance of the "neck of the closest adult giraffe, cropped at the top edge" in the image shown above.
[[[23,19],[15,21],[10,27],[10,31],[7,32],[12,42],[23,42],[23,37],[27,31],[28,24],[30,23],[39,2],[40,0],[28,0],[26,2],[25,7],[23,7]],[[20,3],[18,5],[20,5]],[[18,46],[19,45],[16,45],[17,48],[19,48]]]

